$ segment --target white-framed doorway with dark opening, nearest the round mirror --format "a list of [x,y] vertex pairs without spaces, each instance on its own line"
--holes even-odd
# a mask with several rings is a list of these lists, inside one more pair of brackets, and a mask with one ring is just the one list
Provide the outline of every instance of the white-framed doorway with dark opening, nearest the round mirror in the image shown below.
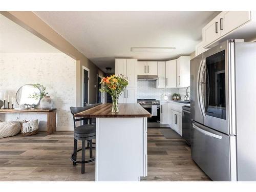
[[90,70],[82,66],[82,106],[86,106],[89,103],[89,79]]

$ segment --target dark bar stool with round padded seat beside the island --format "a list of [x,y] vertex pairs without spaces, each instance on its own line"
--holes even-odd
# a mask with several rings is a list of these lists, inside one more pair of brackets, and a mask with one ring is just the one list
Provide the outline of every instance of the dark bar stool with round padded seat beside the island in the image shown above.
[[[92,140],[96,138],[96,126],[95,124],[92,124],[92,119],[91,118],[78,118],[76,119],[74,117],[74,114],[88,110],[93,108],[94,106],[81,106],[81,107],[71,107],[70,111],[73,115],[73,120],[74,120],[74,150],[73,154],[71,156],[71,160],[73,161],[73,165],[76,165],[76,163],[81,163],[81,173],[84,174],[85,171],[85,163],[89,163],[92,161],[95,161],[95,158],[93,158],[93,142]],[[90,124],[83,124],[80,126],[76,126],[77,121],[83,121],[83,123],[88,123]],[[82,148],[77,150],[77,141],[80,140],[82,141]],[[88,143],[86,147],[86,142]],[[90,160],[86,161],[86,149],[90,149]],[[81,161],[77,161],[77,152],[82,151],[82,158]]]

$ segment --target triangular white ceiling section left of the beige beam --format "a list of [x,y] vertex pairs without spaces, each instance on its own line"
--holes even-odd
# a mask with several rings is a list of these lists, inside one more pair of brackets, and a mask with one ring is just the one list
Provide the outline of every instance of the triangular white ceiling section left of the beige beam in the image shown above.
[[0,14],[0,52],[60,52],[23,27]]

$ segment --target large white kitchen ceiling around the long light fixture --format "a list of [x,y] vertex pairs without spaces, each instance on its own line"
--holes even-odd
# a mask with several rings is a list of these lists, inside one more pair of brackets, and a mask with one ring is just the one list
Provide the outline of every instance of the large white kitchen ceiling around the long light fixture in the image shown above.
[[[105,71],[117,57],[167,60],[189,55],[214,11],[35,11]],[[131,47],[175,47],[171,53],[134,53]]]

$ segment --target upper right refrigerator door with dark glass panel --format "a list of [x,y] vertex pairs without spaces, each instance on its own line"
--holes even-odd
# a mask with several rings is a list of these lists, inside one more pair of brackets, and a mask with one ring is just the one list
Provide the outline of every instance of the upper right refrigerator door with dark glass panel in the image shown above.
[[228,135],[229,46],[225,41],[203,54],[200,79],[204,125]]

